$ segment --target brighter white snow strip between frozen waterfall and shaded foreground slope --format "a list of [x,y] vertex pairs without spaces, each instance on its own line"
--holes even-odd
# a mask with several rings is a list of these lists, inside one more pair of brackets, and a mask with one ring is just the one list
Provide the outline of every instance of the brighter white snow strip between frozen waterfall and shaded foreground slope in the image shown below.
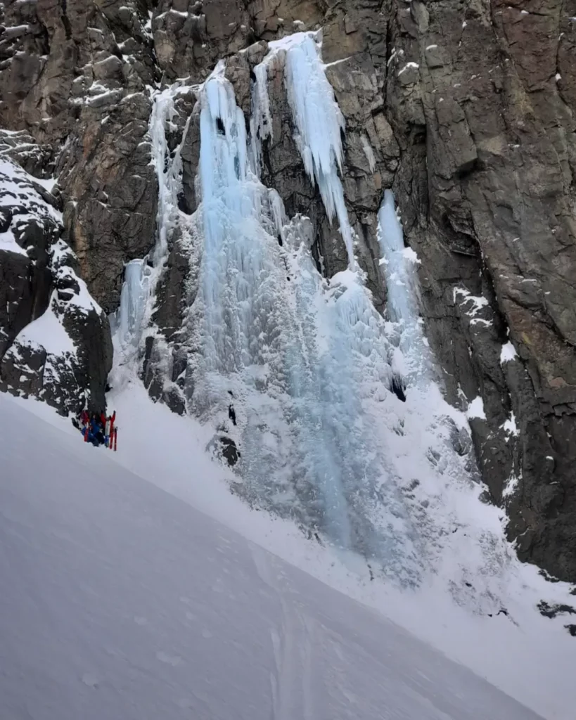
[[[58,428],[60,436],[70,436],[71,448],[78,451],[78,432],[68,419],[42,402],[16,398],[10,402],[39,415]],[[113,459],[284,562],[392,619],[541,716],[573,720],[576,642],[564,629],[571,618],[562,613],[546,618],[536,608],[541,600],[552,606],[570,604],[572,597],[563,583],[545,582],[536,567],[514,559],[505,570],[502,600],[508,615],[504,615],[474,609],[474,598],[485,592],[490,573],[488,578],[471,578],[469,598],[463,603],[455,600],[451,565],[431,572],[426,583],[413,590],[377,577],[371,580],[363,559],[307,539],[291,521],[256,512],[231,494],[233,473],[212,462],[205,451],[210,426],[151,402],[138,381],[114,390],[109,407],[118,413],[118,452],[95,451],[96,458]],[[0,408],[0,420],[1,415]],[[487,506],[479,508],[484,511]]]

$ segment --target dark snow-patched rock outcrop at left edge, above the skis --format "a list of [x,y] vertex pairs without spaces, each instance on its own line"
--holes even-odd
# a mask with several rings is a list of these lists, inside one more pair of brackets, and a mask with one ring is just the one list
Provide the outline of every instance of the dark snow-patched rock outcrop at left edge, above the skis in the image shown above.
[[60,239],[61,214],[8,156],[0,160],[0,390],[60,411],[104,408],[112,364],[106,316]]

